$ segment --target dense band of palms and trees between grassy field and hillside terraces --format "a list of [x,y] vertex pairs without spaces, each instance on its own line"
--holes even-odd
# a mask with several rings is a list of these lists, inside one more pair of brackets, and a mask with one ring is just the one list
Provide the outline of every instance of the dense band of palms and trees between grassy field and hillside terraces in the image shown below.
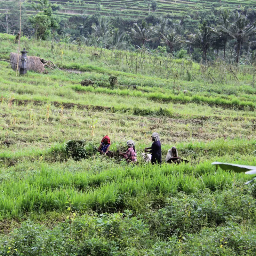
[[[15,33],[17,2],[4,2],[6,12],[1,15],[1,32]],[[152,1],[148,3],[152,5]],[[253,64],[256,56],[255,10],[231,12],[228,8],[214,8],[212,12],[202,13],[201,17],[198,14],[196,17],[187,14],[180,19],[159,18],[151,14],[144,20],[99,15],[77,15],[60,20],[54,15],[54,11],[59,8],[57,4],[39,0],[38,4],[30,5],[36,14],[28,19],[23,18],[22,31],[24,35],[35,36],[37,39],[60,40],[107,49],[157,50],[178,57],[190,56],[205,63],[218,58],[220,51],[225,60],[227,50],[237,63],[243,56]],[[25,8],[23,4],[23,12]]]

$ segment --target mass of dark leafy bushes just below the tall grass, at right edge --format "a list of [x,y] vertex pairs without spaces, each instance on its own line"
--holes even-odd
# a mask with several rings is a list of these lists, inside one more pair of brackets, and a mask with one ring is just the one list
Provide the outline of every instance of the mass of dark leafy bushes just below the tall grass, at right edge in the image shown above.
[[221,194],[172,197],[164,208],[151,213],[149,218],[152,232],[159,236],[195,233],[203,227],[216,227],[228,220],[238,223],[254,219],[255,200],[244,188],[228,190]]

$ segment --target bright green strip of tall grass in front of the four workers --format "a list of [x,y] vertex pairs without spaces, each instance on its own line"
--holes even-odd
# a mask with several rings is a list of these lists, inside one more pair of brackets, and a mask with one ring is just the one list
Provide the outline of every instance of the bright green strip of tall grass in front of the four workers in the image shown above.
[[[236,179],[244,181],[246,176],[238,174]],[[77,212],[115,211],[124,207],[126,197],[174,196],[178,192],[189,195],[206,188],[230,188],[233,182],[233,173],[219,170],[216,174],[210,163],[199,164],[196,172],[188,164],[164,164],[161,168],[147,164],[90,175],[61,172],[43,164],[33,176],[1,182],[0,214],[14,218],[30,212],[63,212],[69,205]],[[130,207],[136,207],[136,203]]]

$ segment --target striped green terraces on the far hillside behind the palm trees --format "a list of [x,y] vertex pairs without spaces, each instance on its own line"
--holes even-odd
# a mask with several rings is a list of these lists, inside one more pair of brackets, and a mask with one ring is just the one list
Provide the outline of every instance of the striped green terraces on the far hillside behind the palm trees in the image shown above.
[[[28,1],[38,2],[38,1]],[[105,1],[68,1],[68,0],[51,0],[50,2],[60,4],[61,9],[55,14],[61,17],[68,17],[77,14],[93,15],[100,14],[111,17],[123,17],[123,18],[143,18],[154,13],[155,15],[180,18],[184,13],[210,11],[212,7],[218,7],[219,3],[216,1],[181,1],[181,0],[157,0],[156,11],[150,10],[148,4],[144,1],[133,0],[105,0]],[[221,6],[227,6],[230,10],[239,8],[254,8],[255,2],[252,0],[243,1],[221,1]],[[219,5],[220,6],[220,5]],[[239,6],[239,7],[238,7]],[[28,10],[28,14],[33,14],[35,11]]]

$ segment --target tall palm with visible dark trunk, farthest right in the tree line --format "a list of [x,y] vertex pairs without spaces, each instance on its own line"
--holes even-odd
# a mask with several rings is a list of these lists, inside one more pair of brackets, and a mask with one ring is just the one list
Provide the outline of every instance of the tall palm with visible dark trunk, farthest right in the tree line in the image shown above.
[[235,21],[229,26],[229,28],[224,28],[222,26],[222,30],[228,33],[231,38],[236,40],[236,63],[239,63],[241,47],[244,42],[247,41],[249,36],[255,33],[255,25],[249,25],[249,20],[247,20],[246,16],[236,12]]

